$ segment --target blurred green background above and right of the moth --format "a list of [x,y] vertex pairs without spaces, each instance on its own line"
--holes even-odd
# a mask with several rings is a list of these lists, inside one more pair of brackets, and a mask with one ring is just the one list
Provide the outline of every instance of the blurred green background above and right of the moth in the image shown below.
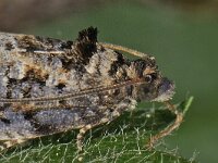
[[162,74],[177,84],[174,102],[187,95],[195,97],[185,122],[166,138],[167,147],[185,158],[213,163],[218,161],[218,16],[216,11],[207,12],[209,9],[192,10],[138,1],[101,1],[40,23],[32,20],[32,25],[22,26],[21,22],[19,29],[10,30],[73,40],[78,30],[96,26],[99,41],[153,54]]

